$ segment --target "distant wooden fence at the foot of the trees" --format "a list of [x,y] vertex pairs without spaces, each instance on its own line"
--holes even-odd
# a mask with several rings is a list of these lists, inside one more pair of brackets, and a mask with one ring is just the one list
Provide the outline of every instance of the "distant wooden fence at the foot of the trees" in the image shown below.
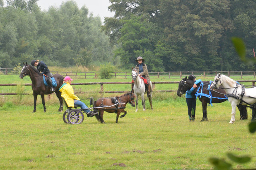
[[[12,73],[13,68],[0,68],[0,73],[8,74],[8,72]],[[98,72],[61,72],[61,71],[52,71],[54,74],[61,74],[63,76],[72,76],[76,78],[97,78]],[[195,76],[216,76],[218,73],[224,74],[228,77],[230,76],[240,76],[241,79],[243,76],[253,76],[255,78],[256,73],[253,71],[170,71],[170,72],[148,72],[150,76],[189,76],[190,74],[194,74]],[[127,78],[127,76],[131,76],[131,72],[112,72],[113,77],[122,76]]]

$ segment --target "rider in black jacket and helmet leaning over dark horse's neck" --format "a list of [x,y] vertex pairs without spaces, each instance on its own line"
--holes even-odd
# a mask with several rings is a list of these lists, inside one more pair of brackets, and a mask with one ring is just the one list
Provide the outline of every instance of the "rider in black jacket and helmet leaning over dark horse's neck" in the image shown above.
[[46,75],[47,82],[50,86],[50,91],[54,92],[54,88],[52,86],[51,73],[47,65],[43,61],[39,62],[39,60],[32,60],[31,65],[36,66],[37,70],[40,71],[41,74]]

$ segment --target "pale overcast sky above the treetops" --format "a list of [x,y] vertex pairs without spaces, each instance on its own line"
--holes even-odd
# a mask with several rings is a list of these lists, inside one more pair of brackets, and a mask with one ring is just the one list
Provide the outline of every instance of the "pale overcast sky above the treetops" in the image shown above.
[[[66,2],[67,0],[38,0],[37,4],[41,7],[41,10],[48,10],[50,6],[60,7],[62,2]],[[93,16],[100,16],[101,21],[104,21],[104,17],[112,17],[114,16],[113,12],[108,10],[108,6],[110,6],[109,0],[74,0],[78,8],[80,9],[82,6],[86,6],[89,9],[89,13],[93,13]],[[5,1],[6,4],[6,1]]]

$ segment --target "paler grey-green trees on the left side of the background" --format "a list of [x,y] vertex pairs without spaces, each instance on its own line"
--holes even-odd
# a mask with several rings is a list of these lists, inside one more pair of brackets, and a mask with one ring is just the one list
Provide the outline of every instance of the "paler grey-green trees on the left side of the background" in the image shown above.
[[100,17],[76,2],[42,11],[38,0],[0,0],[0,67],[32,59],[48,66],[102,64],[112,61],[109,38]]

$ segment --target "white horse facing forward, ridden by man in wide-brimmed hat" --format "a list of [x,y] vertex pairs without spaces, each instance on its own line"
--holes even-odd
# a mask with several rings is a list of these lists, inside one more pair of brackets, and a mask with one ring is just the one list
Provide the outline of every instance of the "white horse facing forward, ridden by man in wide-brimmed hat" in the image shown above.
[[[133,90],[134,90],[134,94],[136,96],[136,111],[138,111],[138,96],[141,96],[143,111],[145,111],[146,106],[145,106],[144,94],[146,94],[147,90],[145,90],[144,80],[138,76],[138,72],[136,71],[136,69],[133,69],[133,67],[132,67],[132,80],[134,81]],[[151,81],[150,81],[150,86],[152,87]],[[149,100],[151,109],[153,110],[152,96],[150,96],[148,98],[148,100]]]

